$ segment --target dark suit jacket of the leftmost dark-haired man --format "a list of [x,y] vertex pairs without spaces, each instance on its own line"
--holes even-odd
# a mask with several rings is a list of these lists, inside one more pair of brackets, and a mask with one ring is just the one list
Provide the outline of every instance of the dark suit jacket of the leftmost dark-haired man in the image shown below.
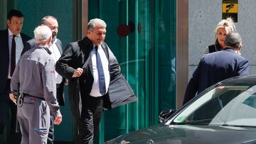
[[[23,51],[26,52],[26,41],[31,39],[28,35],[21,33],[21,39],[23,41]],[[8,79],[9,70],[9,33],[8,29],[0,31],[0,99],[9,99],[9,97],[3,98],[4,92],[10,92],[10,88],[6,88],[6,82]]]

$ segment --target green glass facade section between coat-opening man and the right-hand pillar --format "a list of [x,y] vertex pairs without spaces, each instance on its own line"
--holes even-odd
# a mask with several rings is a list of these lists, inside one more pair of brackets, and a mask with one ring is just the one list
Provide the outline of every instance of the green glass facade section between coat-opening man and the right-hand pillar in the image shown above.
[[[100,143],[158,123],[176,109],[176,1],[89,1],[89,19],[107,23],[106,43],[116,55],[137,103],[105,111]],[[119,34],[119,28],[129,31]],[[124,27],[122,31],[125,31]]]

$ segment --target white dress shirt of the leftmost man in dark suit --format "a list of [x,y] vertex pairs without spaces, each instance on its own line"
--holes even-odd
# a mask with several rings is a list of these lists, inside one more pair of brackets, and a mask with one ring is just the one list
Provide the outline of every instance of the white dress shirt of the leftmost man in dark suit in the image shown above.
[[[9,44],[9,72],[8,72],[8,79],[11,79],[11,43],[13,39],[13,33],[8,29],[9,36],[8,36],[8,44]],[[16,35],[14,38],[15,43],[16,43],[16,54],[15,54],[15,59],[16,59],[16,64],[21,57],[21,52],[23,50],[23,42],[21,38],[21,34]]]

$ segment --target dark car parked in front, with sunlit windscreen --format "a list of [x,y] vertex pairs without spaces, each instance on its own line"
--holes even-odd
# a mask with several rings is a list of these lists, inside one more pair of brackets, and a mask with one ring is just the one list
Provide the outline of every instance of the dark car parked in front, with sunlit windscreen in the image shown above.
[[256,75],[219,82],[159,120],[105,143],[256,143]]

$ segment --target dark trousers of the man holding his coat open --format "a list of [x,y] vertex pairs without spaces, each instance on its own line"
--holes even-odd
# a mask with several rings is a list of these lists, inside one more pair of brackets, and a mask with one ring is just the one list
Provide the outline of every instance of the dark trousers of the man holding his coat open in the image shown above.
[[93,144],[99,128],[102,109],[102,96],[85,96],[85,99],[82,99],[81,118],[77,118],[79,144]]

